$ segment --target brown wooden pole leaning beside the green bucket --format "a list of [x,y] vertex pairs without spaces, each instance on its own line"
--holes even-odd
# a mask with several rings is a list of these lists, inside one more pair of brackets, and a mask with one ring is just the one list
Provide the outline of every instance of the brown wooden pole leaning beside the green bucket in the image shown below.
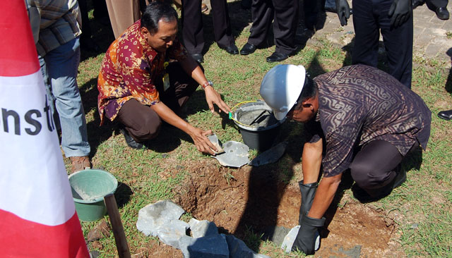
[[112,223],[114,241],[118,250],[119,258],[130,258],[129,245],[127,245],[126,233],[121,222],[116,199],[113,194],[104,197],[105,207],[107,207],[108,216]]

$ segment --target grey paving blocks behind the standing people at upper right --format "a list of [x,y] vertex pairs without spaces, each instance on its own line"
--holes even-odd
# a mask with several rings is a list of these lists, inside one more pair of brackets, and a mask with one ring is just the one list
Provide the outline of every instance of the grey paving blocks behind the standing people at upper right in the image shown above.
[[[350,4],[350,6],[352,5]],[[452,11],[452,1],[448,2],[448,11]],[[413,11],[413,16],[413,56],[438,59],[438,61],[444,61],[448,66],[451,66],[451,57],[446,54],[446,51],[452,52],[452,13],[449,20],[439,20],[434,11],[429,10],[427,5],[424,4]],[[326,13],[323,28],[317,30],[307,44],[317,44],[319,39],[326,38],[335,44],[345,46],[352,42],[353,37],[355,37],[355,30],[353,29],[352,17],[350,17],[346,26],[341,27],[337,14]],[[381,42],[382,40],[380,37]]]

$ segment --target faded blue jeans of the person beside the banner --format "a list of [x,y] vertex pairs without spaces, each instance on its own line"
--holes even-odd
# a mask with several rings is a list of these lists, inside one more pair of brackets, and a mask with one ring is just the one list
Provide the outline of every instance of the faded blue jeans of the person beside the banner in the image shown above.
[[38,58],[49,106],[61,125],[61,147],[64,154],[66,157],[88,156],[90,144],[86,133],[85,111],[77,85],[80,63],[78,37],[49,51],[45,56],[38,55]]

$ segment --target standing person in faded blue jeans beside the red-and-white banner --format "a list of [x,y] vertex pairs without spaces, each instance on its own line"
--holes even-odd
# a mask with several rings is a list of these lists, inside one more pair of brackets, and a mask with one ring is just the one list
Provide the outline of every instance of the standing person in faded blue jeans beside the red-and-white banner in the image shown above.
[[71,172],[90,168],[90,144],[85,111],[77,85],[80,62],[81,16],[77,1],[27,0],[47,99],[56,125],[61,125],[61,147],[71,159]]

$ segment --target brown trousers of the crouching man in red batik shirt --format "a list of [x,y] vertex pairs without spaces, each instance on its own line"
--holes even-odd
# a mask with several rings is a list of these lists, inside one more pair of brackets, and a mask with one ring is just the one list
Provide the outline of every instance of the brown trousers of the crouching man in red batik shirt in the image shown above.
[[[177,62],[169,63],[167,67],[169,74],[169,88],[164,91],[162,81],[155,82],[155,87],[160,95],[160,101],[178,113],[182,106],[189,100],[198,87],[198,82],[187,75]],[[156,137],[159,133],[162,120],[150,108],[130,99],[119,109],[117,118],[124,128],[129,132],[136,142],[145,142]]]

